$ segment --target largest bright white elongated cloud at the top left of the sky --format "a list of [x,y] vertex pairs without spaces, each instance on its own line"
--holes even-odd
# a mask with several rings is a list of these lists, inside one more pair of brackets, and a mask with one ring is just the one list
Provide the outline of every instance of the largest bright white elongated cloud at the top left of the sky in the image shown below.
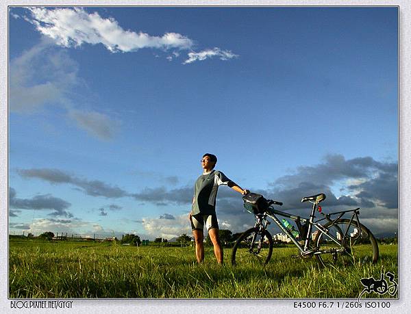
[[114,18],[102,18],[97,12],[88,14],[81,8],[29,10],[36,29],[63,47],[103,44],[112,52],[130,52],[142,48],[190,49],[193,45],[190,38],[173,32],[160,37],[125,30]]

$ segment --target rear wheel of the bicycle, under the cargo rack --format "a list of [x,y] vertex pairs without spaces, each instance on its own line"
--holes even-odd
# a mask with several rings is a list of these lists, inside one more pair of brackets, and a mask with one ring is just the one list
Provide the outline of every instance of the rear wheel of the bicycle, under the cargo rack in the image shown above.
[[323,254],[316,254],[316,258],[323,266],[328,265],[371,265],[377,263],[378,246],[374,235],[366,226],[348,219],[329,222],[324,225],[343,246],[336,244],[332,239],[319,232],[314,244]]

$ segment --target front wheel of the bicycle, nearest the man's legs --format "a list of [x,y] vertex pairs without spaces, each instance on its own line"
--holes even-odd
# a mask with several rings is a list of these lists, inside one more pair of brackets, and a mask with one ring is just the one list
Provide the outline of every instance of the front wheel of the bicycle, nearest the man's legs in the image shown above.
[[232,265],[266,265],[273,254],[269,231],[250,228],[242,233],[232,250]]

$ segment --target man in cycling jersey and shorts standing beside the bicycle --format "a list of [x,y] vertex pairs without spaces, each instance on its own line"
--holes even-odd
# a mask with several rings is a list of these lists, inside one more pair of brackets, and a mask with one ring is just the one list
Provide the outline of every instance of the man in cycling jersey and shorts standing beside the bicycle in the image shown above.
[[216,216],[216,196],[219,185],[227,185],[242,195],[249,192],[228,179],[223,172],[214,170],[216,163],[217,157],[215,155],[208,153],[203,155],[201,159],[203,174],[195,182],[192,208],[188,215],[195,239],[195,254],[198,263],[202,263],[204,260],[204,224],[206,224],[208,235],[210,235],[214,246],[217,263],[223,263],[223,248],[219,239],[219,223]]

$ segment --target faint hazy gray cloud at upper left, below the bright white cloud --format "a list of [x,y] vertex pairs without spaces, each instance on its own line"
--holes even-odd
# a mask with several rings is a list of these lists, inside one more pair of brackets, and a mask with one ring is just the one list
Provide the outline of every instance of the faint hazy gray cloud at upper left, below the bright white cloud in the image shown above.
[[77,73],[77,62],[66,51],[51,46],[51,40],[42,38],[10,62],[10,112],[31,114],[47,105],[57,105],[67,110],[80,129],[101,140],[111,140],[119,121],[71,105],[70,93],[81,81]]

